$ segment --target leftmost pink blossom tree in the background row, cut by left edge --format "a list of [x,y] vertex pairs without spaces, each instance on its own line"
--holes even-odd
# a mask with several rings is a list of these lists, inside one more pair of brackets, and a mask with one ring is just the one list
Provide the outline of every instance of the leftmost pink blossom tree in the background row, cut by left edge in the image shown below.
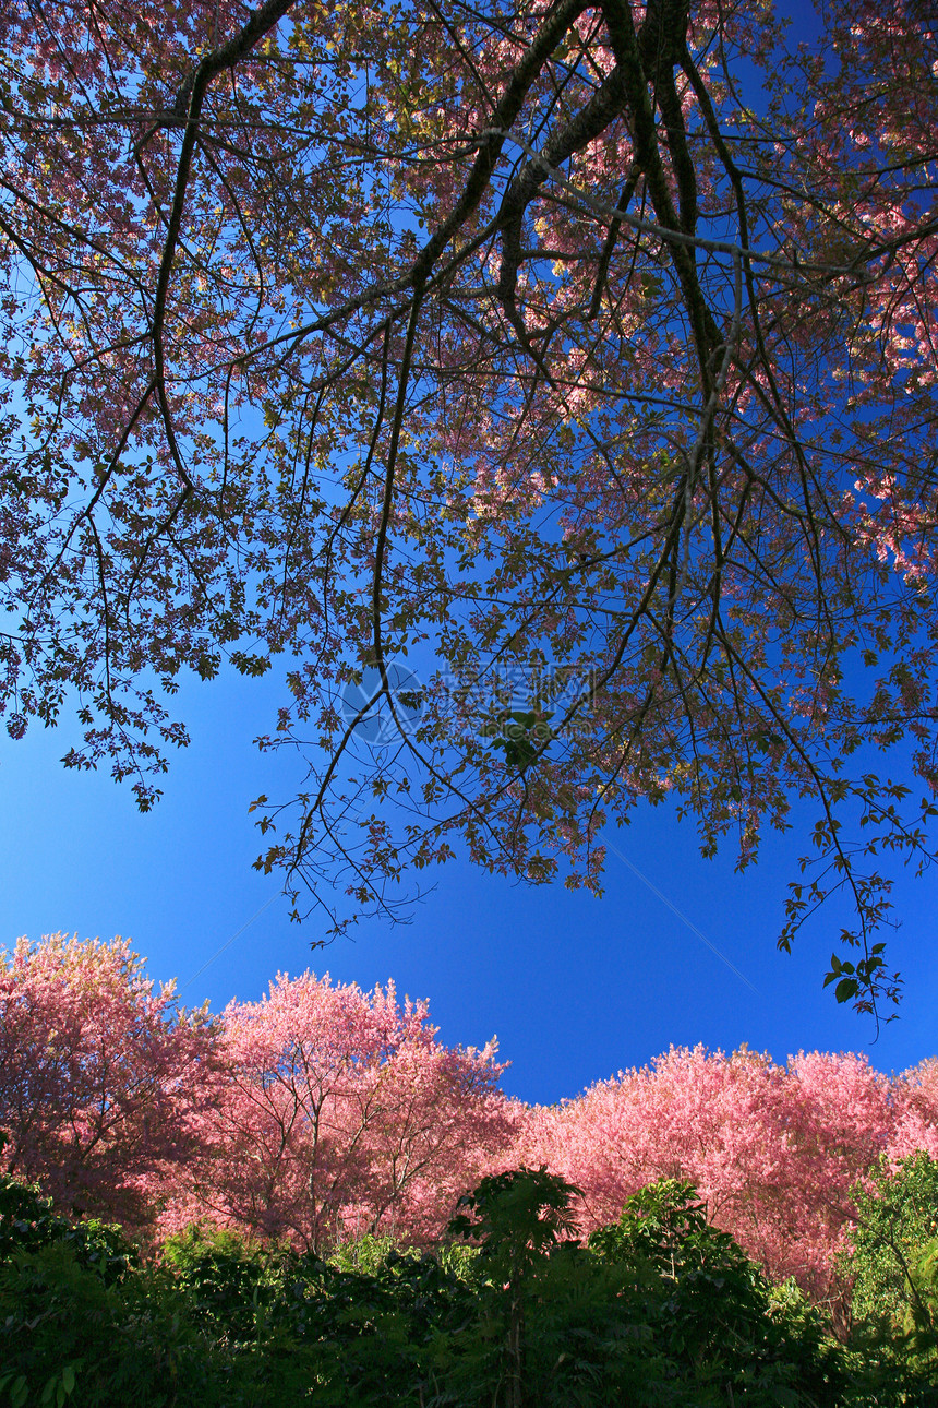
[[0,1167],[63,1211],[145,1226],[193,1152],[214,1041],[128,942],[20,939],[0,952]]

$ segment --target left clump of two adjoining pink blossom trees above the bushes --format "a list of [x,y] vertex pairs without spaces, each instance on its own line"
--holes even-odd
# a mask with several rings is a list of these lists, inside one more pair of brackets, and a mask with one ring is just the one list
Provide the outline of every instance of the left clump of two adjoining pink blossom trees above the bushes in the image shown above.
[[394,984],[280,974],[210,1019],[155,994],[122,939],[0,950],[0,1171],[150,1233],[430,1242],[510,1146],[503,1070],[494,1041],[443,1046]]

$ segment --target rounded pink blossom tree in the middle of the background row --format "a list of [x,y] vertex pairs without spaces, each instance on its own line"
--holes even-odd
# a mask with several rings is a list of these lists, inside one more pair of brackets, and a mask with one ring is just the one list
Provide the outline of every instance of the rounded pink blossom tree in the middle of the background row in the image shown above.
[[456,1198],[510,1145],[495,1043],[444,1048],[426,1002],[328,974],[278,974],[222,1015],[201,1153],[165,1226],[208,1217],[323,1250],[343,1236],[439,1239]]

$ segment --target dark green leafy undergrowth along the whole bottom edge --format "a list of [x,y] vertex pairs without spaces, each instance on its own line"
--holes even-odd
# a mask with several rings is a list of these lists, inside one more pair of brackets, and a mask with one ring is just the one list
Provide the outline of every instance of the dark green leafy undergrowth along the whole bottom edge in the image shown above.
[[575,1193],[544,1170],[484,1178],[433,1255],[363,1238],[323,1260],[193,1226],[145,1260],[120,1228],[72,1224],[0,1177],[0,1402],[938,1404],[931,1160],[883,1173],[863,1205],[847,1343],[707,1222],[689,1183],[641,1190],[585,1245]]

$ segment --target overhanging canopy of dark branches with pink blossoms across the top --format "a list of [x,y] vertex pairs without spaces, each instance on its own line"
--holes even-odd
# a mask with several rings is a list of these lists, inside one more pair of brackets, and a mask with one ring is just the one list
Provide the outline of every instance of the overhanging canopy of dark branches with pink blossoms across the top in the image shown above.
[[457,842],[596,888],[667,794],[745,863],[810,798],[782,942],[847,887],[837,995],[894,993],[872,857],[928,857],[937,780],[931,8],[834,0],[793,52],[769,0],[24,0],[0,39],[10,732],[77,691],[66,762],[148,807],[179,672],[291,656],[266,743],[311,776],[260,863],[352,908]]

